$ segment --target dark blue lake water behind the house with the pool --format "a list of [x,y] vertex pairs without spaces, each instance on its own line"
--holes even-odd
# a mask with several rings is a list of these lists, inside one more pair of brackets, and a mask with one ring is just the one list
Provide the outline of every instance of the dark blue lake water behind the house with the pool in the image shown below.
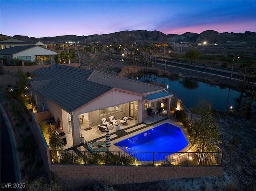
[[240,96],[240,92],[232,89],[177,76],[173,76],[169,79],[150,74],[134,75],[128,78],[165,87],[168,92],[177,96],[178,99],[181,99],[188,109],[195,107],[200,100],[206,100],[215,110],[229,110],[230,106],[232,106],[233,109],[238,108],[238,102],[236,100]]

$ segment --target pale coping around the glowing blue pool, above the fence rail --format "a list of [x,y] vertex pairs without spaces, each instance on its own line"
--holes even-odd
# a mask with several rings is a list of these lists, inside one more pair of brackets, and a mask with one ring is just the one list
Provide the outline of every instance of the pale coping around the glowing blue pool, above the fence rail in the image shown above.
[[[130,137],[132,137],[132,136],[134,136],[134,135],[140,134],[140,133],[142,133],[142,132],[144,132],[144,131],[147,131],[147,130],[150,130],[150,129],[152,129],[152,128],[155,128],[156,126],[160,126],[160,125],[162,125],[162,124],[165,124],[165,123],[169,123],[169,124],[172,124],[172,125],[175,125],[175,126],[179,127],[179,128],[182,130],[182,133],[184,134],[186,140],[187,140],[188,143],[189,143],[189,135],[188,135],[188,132],[186,131],[186,129],[184,128],[183,124],[180,123],[180,122],[177,122],[177,121],[173,121],[173,120],[171,120],[171,119],[167,119],[167,120],[158,122],[158,123],[156,123],[156,124],[152,124],[152,125],[150,125],[150,126],[147,126],[147,127],[145,127],[145,128],[142,128],[142,129],[140,129],[140,130],[138,130],[138,131],[136,131],[136,132],[132,132],[132,133],[130,133],[130,134],[128,134],[128,135],[125,135],[125,136],[122,136],[122,137],[120,137],[120,138],[114,139],[113,141],[111,141],[111,146],[110,146],[110,148],[109,148],[109,151],[110,151],[110,152],[124,152],[124,151],[121,150],[118,146],[115,146],[114,144],[117,143],[117,142],[120,142],[120,141],[122,141],[122,140],[124,140],[124,139],[130,138]],[[189,146],[189,144],[188,144],[185,148],[183,148],[183,149],[180,150],[179,152],[186,152],[186,151],[189,149],[189,147],[190,147],[190,146]]]

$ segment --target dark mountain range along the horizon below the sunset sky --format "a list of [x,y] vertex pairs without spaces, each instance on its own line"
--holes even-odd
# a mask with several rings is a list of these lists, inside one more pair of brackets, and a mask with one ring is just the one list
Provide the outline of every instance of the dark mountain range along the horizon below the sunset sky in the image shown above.
[[[42,40],[47,42],[55,43],[66,43],[67,41],[80,42],[80,43],[91,43],[101,42],[103,44],[108,43],[124,43],[124,42],[137,42],[143,43],[184,43],[184,44],[198,44],[206,41],[208,44],[218,44],[227,46],[237,47],[256,47],[256,32],[246,31],[244,33],[218,33],[214,30],[206,30],[200,34],[186,32],[184,34],[164,34],[159,31],[121,31],[102,35],[89,35],[89,36],[77,36],[77,35],[63,35],[56,37],[28,37],[22,35],[13,36],[18,39],[24,40]],[[10,38],[10,36],[2,35],[1,40]]]

